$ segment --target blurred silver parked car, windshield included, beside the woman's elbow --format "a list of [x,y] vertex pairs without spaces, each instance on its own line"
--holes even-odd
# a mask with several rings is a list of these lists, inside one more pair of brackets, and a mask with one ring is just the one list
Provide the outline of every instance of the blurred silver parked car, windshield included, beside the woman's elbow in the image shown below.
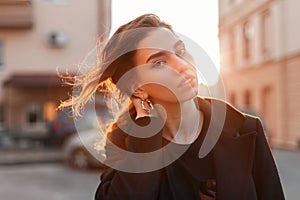
[[101,162],[105,160],[103,131],[111,120],[112,116],[108,112],[96,114],[89,110],[75,121],[76,131],[63,144],[65,160],[70,166],[75,168],[104,167]]

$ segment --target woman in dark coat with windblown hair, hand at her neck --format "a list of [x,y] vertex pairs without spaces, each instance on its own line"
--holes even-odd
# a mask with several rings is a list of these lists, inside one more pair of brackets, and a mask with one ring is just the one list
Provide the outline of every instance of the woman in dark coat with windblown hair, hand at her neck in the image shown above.
[[193,58],[170,25],[142,15],[121,26],[99,57],[60,106],[78,114],[99,89],[125,105],[107,130],[96,200],[284,199],[260,120],[197,96]]

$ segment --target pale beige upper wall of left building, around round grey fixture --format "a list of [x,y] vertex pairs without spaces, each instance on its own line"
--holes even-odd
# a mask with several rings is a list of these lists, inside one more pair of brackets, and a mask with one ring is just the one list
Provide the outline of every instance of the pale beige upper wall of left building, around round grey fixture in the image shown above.
[[[75,67],[94,47],[98,34],[98,0],[72,0],[55,4],[32,0],[33,27],[30,29],[0,29],[4,44],[4,70],[0,82],[12,73],[56,73],[77,71]],[[51,31],[67,36],[66,46],[56,48],[47,39]],[[3,91],[0,89],[0,99]],[[1,101],[1,100],[0,100]]]

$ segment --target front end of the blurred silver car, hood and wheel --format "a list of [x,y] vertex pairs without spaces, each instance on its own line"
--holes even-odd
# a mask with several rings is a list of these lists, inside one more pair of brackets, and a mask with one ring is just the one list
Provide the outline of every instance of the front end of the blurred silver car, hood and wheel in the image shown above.
[[[99,142],[99,137],[103,138],[101,134],[99,130],[89,129],[69,137],[63,148],[67,164],[79,169],[103,168],[104,164],[101,161],[105,160],[104,146],[97,150],[94,148]],[[93,151],[93,153],[90,151]],[[92,154],[96,154],[97,158]]]

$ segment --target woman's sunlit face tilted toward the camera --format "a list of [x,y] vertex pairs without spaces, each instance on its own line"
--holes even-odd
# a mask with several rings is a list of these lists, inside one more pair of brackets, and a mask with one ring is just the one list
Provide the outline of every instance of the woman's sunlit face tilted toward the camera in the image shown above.
[[141,40],[134,61],[139,87],[153,102],[183,102],[197,95],[193,59],[169,29],[157,28]]

